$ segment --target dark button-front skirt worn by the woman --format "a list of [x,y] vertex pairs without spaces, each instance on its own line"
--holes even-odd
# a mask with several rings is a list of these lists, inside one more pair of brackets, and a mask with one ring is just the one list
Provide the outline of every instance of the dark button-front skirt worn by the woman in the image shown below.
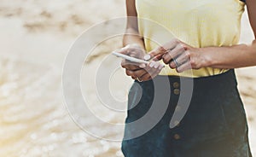
[[203,78],[135,81],[128,96],[126,157],[250,157],[234,70]]

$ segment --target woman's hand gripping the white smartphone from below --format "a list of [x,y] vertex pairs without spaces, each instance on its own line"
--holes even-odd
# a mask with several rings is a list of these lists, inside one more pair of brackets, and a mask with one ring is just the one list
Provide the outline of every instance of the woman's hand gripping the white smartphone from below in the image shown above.
[[[116,51],[139,59],[143,59],[146,55],[145,51],[137,44],[129,44]],[[149,61],[148,64],[139,64],[127,60],[123,60],[121,66],[125,68],[125,72],[128,76],[131,76],[131,78],[137,79],[138,81],[147,81],[154,78],[164,67],[159,61]]]

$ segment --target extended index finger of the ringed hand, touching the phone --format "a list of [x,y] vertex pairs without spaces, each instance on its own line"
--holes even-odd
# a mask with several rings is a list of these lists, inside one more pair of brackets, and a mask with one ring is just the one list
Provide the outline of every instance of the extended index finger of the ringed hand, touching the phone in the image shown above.
[[160,46],[157,49],[148,52],[148,55],[145,55],[144,59],[149,60],[156,55],[163,55],[166,53],[167,49],[174,49],[177,46],[177,44],[180,44],[180,41],[177,39],[172,39],[170,42],[164,44],[163,46]]

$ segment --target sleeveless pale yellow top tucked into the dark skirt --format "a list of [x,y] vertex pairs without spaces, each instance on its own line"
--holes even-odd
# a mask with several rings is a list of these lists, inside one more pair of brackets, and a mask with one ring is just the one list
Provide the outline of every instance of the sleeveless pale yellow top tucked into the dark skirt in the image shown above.
[[[240,0],[136,0],[139,32],[147,52],[172,38],[197,48],[238,44],[244,5]],[[160,75],[197,78],[227,70],[204,67],[177,73],[166,66]]]

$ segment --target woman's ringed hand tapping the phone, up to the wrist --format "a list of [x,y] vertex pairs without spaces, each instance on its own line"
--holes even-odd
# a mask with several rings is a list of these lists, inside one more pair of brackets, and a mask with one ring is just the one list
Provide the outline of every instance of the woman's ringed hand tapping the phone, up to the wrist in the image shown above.
[[171,68],[176,68],[178,73],[188,69],[199,69],[206,65],[207,60],[203,56],[200,48],[194,48],[189,44],[184,44],[178,39],[164,44],[148,53],[145,59],[162,59]]

